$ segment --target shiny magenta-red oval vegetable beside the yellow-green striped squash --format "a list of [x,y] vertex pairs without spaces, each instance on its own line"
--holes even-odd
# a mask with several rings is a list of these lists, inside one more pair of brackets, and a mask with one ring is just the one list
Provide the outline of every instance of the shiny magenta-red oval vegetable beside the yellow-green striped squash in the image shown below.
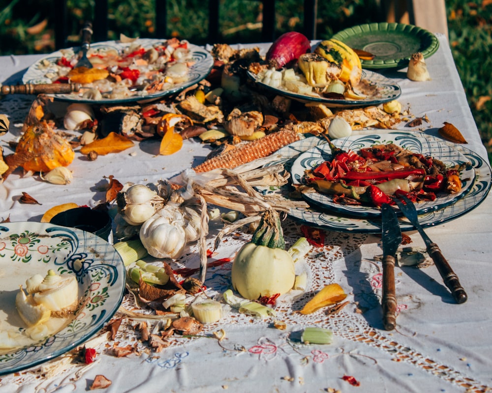
[[276,70],[295,62],[299,56],[309,52],[311,44],[304,34],[289,31],[282,34],[267,52],[266,60]]

